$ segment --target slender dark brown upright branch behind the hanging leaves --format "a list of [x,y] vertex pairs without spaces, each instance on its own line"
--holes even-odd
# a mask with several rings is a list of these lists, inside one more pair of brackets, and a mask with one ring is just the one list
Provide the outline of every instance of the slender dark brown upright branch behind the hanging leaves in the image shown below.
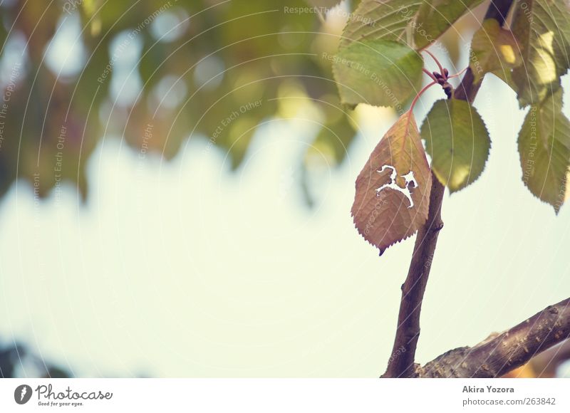
[[[493,0],[489,4],[484,19],[495,19],[503,25],[513,0]],[[475,100],[481,83],[474,83],[472,70],[465,72],[460,86],[455,90],[454,98]],[[415,239],[414,252],[408,276],[402,286],[398,327],[388,360],[388,368],[382,377],[413,377],[415,375],[415,349],[420,337],[420,313],[423,295],[430,276],[437,235],[442,229],[441,205],[445,188],[440,184],[435,174],[432,174],[432,189],[430,194],[430,211],[427,220],[418,231]]]

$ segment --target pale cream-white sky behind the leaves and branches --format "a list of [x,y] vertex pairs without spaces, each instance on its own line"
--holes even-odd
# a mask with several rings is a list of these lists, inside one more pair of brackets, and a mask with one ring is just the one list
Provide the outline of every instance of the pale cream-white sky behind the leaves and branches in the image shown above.
[[[445,197],[421,362],[570,292],[570,211],[556,217],[520,179],[524,112],[490,78],[476,106],[491,156]],[[86,206],[66,189],[36,208],[19,182],[0,206],[1,337],[81,376],[378,375],[413,240],[378,257],[349,210],[390,122],[365,122],[348,160],[323,171],[314,210],[294,169],[315,130],[301,115],[262,126],[235,174],[204,140],[166,163],[108,137],[88,160]]]

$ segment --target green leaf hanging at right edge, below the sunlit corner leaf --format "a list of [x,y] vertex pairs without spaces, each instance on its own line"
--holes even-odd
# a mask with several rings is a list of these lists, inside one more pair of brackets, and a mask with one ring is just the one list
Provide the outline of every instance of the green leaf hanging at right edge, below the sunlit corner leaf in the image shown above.
[[570,121],[562,113],[561,89],[531,106],[519,132],[519,155],[522,181],[557,214],[570,167]]

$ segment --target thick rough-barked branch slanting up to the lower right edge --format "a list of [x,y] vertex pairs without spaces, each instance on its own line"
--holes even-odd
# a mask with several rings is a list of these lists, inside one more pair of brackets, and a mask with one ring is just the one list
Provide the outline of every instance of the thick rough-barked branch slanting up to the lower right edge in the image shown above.
[[570,298],[475,347],[450,350],[417,367],[417,377],[500,377],[570,338]]

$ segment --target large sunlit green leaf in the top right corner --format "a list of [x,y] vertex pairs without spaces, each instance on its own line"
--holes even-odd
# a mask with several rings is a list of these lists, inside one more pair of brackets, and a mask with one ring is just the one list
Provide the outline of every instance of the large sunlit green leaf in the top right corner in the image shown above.
[[570,11],[565,1],[527,0],[514,6],[512,31],[524,64],[512,79],[521,107],[540,103],[560,88],[570,68]]

